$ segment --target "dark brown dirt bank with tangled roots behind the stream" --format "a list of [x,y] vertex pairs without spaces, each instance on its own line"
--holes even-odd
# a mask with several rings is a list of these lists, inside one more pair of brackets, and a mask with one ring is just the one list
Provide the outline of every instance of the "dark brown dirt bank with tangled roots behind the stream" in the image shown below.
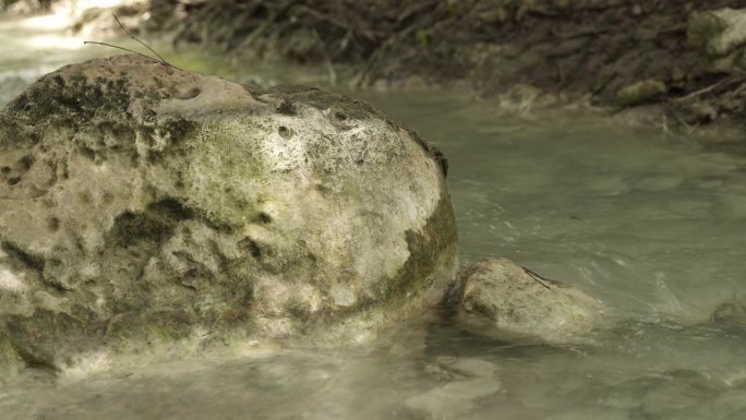
[[691,132],[746,115],[743,48],[713,55],[693,39],[693,14],[722,8],[746,0],[152,0],[117,13],[177,46],[321,63],[342,83],[589,104]]

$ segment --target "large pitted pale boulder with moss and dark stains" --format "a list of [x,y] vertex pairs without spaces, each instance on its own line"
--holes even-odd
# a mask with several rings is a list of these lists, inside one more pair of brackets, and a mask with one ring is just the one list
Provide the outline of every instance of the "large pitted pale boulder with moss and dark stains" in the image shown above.
[[64,67],[0,112],[0,369],[365,341],[455,276],[445,171],[345,96]]

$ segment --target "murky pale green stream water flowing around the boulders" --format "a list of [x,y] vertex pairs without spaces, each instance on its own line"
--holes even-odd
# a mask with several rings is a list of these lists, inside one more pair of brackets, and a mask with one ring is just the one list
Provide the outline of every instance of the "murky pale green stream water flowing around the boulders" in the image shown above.
[[[0,22],[2,101],[109,52],[52,53],[21,44],[17,24]],[[318,76],[169,57],[241,81]],[[353,95],[449,158],[464,264],[506,256],[599,298],[609,328],[594,345],[500,341],[433,313],[366,349],[31,375],[0,387],[0,419],[746,419],[746,157],[599,118],[500,117],[462,96]]]

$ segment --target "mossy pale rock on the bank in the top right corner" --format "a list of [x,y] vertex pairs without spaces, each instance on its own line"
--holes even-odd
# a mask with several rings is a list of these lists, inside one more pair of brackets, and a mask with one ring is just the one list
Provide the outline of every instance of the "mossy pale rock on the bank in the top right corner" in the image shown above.
[[746,10],[718,9],[691,12],[689,41],[710,56],[724,56],[746,44]]

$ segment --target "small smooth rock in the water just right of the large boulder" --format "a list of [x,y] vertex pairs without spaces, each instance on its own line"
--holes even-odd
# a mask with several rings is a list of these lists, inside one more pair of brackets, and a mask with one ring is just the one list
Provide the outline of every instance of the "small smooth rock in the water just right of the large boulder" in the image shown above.
[[580,343],[603,308],[585,292],[542,278],[506,259],[486,259],[461,277],[460,317],[480,333]]

